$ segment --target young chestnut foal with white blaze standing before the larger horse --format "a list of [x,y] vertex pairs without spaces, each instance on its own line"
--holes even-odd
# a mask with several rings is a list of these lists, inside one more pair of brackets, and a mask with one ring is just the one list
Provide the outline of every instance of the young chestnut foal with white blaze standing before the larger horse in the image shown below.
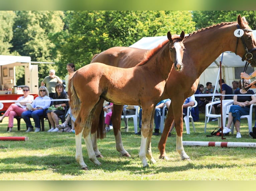
[[173,63],[177,68],[182,67],[184,35],[182,31],[180,36],[172,37],[168,32],[168,40],[149,51],[145,59],[135,67],[124,69],[92,63],[80,68],[71,77],[69,93],[72,114],[76,117],[76,160],[82,169],[88,169],[82,155],[82,134],[89,159],[101,165],[90,140],[92,119],[100,98],[115,104],[143,107],[139,157],[143,167],[148,166],[146,157],[155,163],[151,152],[154,108],[162,99]]

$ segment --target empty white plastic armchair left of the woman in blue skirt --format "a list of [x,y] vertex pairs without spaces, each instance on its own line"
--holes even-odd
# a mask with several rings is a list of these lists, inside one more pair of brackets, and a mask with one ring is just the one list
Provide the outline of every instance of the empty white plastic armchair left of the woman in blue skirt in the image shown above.
[[[233,99],[224,99],[222,100],[222,115],[223,115],[223,125],[225,125],[226,123],[226,117],[227,117],[227,114],[226,114],[226,110],[227,110],[227,106],[228,105],[232,105],[233,104]],[[206,133],[206,124],[207,124],[207,120],[208,120],[208,117],[212,117],[212,118],[217,118],[218,119],[218,125],[219,127],[221,127],[221,114],[211,114],[210,112],[210,108],[211,108],[211,105],[212,107],[214,107],[214,104],[219,104],[221,103],[221,100],[218,100],[218,101],[214,101],[214,102],[211,102],[211,103],[207,103],[206,106],[205,106],[205,133]]]

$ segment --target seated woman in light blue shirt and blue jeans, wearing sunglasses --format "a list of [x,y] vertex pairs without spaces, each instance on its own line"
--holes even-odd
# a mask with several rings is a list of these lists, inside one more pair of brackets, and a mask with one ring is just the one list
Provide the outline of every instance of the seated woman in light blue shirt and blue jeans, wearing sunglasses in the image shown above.
[[49,92],[46,87],[40,86],[38,90],[38,97],[31,103],[31,110],[26,107],[26,111],[23,111],[21,116],[25,121],[28,129],[26,132],[33,131],[33,126],[31,124],[30,117],[34,119],[35,122],[35,132],[40,131],[40,116],[44,114],[44,109],[47,109],[50,104],[50,97],[48,96]]

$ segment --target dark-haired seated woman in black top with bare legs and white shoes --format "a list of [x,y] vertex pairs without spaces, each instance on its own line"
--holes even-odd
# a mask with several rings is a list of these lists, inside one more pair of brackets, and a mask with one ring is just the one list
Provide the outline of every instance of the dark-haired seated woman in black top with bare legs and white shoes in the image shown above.
[[[68,98],[68,95],[66,92],[64,92],[64,88],[62,84],[56,84],[53,99],[67,99],[67,98]],[[57,125],[59,124],[58,116],[65,114],[65,110],[63,109],[63,107],[68,105],[69,105],[69,101],[53,101],[53,106],[56,109],[47,111],[47,117],[51,123],[51,128],[47,132],[56,132],[59,130],[57,127]]]

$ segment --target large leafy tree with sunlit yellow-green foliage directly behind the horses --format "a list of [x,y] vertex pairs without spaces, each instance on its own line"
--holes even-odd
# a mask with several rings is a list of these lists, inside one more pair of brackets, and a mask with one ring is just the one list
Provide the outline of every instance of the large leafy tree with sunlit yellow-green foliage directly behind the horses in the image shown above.
[[[163,36],[195,30],[188,11],[70,11],[66,12],[68,32],[60,45],[60,64],[76,68],[90,63],[94,54],[115,46],[130,46],[142,37]],[[65,69],[61,69],[66,74]]]

